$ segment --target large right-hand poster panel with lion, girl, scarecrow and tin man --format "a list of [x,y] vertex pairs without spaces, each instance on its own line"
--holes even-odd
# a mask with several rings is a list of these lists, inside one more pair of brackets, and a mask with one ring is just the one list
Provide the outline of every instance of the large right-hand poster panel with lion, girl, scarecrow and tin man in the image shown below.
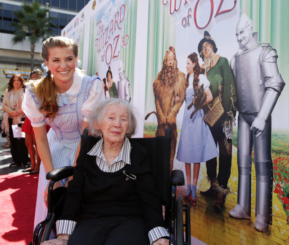
[[[240,20],[243,5],[248,16],[245,22]],[[192,192],[193,185],[196,185],[196,196],[191,201],[194,205],[191,206],[191,234],[204,243],[286,244],[288,240],[289,110],[288,86],[284,87],[282,79],[282,85],[278,85],[277,90],[272,89],[282,91],[284,87],[272,118],[267,118],[267,121],[272,120],[272,124],[266,124],[269,126],[262,131],[262,136],[253,136],[250,131],[252,121],[244,129],[241,120],[238,127],[238,112],[243,112],[243,119],[247,112],[256,113],[252,114],[253,118],[258,115],[253,103],[259,103],[260,107],[263,101],[264,94],[259,94],[260,86],[264,86],[262,91],[265,93],[265,78],[269,76],[266,74],[269,72],[274,77],[275,68],[265,68],[264,64],[268,63],[264,63],[266,59],[261,57],[264,53],[258,51],[257,57],[243,60],[242,55],[251,51],[248,47],[255,44],[262,50],[269,48],[272,53],[275,48],[279,56],[279,71],[275,72],[275,78],[281,74],[285,82],[288,80],[287,50],[284,50],[286,44],[283,43],[288,38],[284,26],[288,19],[283,10],[286,6],[286,1],[149,1],[144,137],[164,135],[166,127],[172,128],[171,169],[183,170],[187,184],[190,182],[192,185]],[[242,50],[240,47],[248,38],[242,35],[250,26],[252,40]],[[274,48],[268,46],[269,43]],[[275,62],[277,54],[271,56],[274,58],[270,62]],[[195,77],[197,65],[201,72]],[[263,82],[251,86],[260,81],[261,76]],[[243,77],[247,80],[242,81]],[[198,92],[194,91],[196,81],[199,85],[204,84],[203,87],[207,87],[209,81],[212,97],[222,100],[225,113],[212,127],[202,120],[202,109],[190,118],[194,106],[197,106],[197,97],[194,97]],[[250,86],[245,84],[248,81]],[[270,86],[267,83],[266,87]],[[208,92],[206,94],[210,96]],[[262,99],[254,101],[258,96]],[[188,110],[193,100],[195,104]],[[266,107],[267,110],[270,108]],[[205,114],[208,112],[207,106],[204,111]],[[273,161],[270,156],[271,132],[266,131],[270,125]],[[253,141],[249,136],[244,137],[245,132],[254,140],[252,156]],[[178,189],[179,194],[189,195],[187,184]],[[237,203],[241,205],[236,206]],[[255,217],[256,213],[262,212],[263,216]]]

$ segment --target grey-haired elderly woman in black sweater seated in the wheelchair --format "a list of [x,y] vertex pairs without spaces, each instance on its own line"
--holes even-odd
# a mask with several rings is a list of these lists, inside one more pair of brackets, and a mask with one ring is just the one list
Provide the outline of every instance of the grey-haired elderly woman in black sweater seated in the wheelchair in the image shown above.
[[58,237],[42,244],[169,244],[148,153],[128,137],[136,130],[125,100],[102,101],[89,118]]

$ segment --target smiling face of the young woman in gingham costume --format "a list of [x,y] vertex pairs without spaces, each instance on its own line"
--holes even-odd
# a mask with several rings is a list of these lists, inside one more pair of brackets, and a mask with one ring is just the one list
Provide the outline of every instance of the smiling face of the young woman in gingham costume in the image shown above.
[[73,74],[78,58],[67,47],[52,47],[48,50],[48,60],[45,64],[51,71],[54,82],[57,84],[73,82]]

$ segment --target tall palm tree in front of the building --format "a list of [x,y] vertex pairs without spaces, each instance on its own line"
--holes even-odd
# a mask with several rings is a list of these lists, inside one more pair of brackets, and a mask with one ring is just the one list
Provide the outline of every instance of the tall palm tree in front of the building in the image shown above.
[[51,22],[54,18],[48,17],[49,8],[43,7],[39,2],[32,4],[23,3],[22,9],[15,13],[17,21],[13,21],[11,26],[16,28],[13,43],[23,42],[28,36],[30,41],[31,71],[34,69],[35,44],[39,38],[46,38],[51,34],[51,27],[55,26]]

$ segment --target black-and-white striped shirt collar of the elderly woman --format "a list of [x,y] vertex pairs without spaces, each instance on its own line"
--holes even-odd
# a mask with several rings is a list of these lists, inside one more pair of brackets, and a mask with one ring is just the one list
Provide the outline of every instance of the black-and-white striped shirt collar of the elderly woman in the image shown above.
[[[103,157],[103,149],[102,149],[103,142],[104,142],[104,139],[101,138],[87,154],[102,158]],[[131,144],[129,142],[129,139],[125,137],[123,146],[120,150],[120,154],[116,157],[113,163],[124,161],[126,164],[130,164],[130,150],[131,150]]]

